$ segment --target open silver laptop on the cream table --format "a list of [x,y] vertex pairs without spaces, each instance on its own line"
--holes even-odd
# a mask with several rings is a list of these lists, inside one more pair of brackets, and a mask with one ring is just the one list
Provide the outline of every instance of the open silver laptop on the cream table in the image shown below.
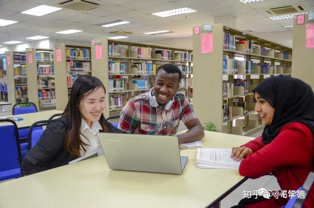
[[178,137],[97,133],[110,169],[182,174],[187,156],[180,156]]

